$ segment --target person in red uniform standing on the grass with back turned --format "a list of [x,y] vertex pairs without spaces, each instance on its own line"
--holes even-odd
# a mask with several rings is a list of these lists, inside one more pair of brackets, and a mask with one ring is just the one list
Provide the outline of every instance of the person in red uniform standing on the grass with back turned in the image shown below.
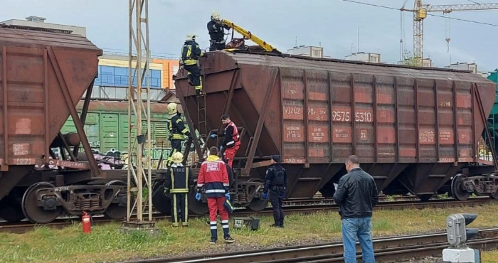
[[216,244],[218,240],[218,226],[216,215],[219,213],[221,218],[221,227],[223,228],[223,238],[225,242],[235,242],[230,237],[230,230],[228,229],[228,212],[223,207],[226,198],[230,200],[230,184],[228,181],[228,173],[226,172],[226,165],[217,156],[218,148],[211,147],[209,149],[209,156],[206,161],[201,164],[201,171],[197,178],[197,194],[196,199],[201,200],[201,189],[204,188],[206,198],[208,199],[209,220],[211,227],[211,241],[210,244]]

